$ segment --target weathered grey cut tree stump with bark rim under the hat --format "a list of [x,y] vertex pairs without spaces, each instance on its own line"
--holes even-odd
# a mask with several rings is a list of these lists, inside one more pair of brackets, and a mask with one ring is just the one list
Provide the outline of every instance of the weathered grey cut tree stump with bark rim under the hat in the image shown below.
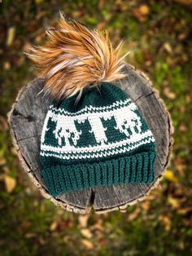
[[53,201],[63,209],[86,214],[93,208],[101,214],[111,210],[126,211],[128,205],[142,201],[151,189],[159,184],[168,165],[172,150],[172,120],[159,98],[159,93],[152,87],[150,79],[142,71],[129,64],[124,65],[127,77],[116,82],[125,90],[142,112],[156,140],[157,157],[155,160],[154,183],[126,183],[116,186],[88,188],[61,196],[50,196],[41,176],[39,161],[41,129],[48,111],[51,97],[39,93],[43,79],[35,79],[24,86],[8,113],[8,122],[15,149],[21,165],[33,183],[40,189],[42,196]]

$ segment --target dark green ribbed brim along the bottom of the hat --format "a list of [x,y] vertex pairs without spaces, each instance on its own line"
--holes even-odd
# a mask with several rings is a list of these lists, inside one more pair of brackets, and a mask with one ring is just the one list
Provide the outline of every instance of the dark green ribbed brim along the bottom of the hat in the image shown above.
[[140,152],[102,162],[51,166],[42,170],[48,192],[59,196],[83,188],[120,183],[152,183],[155,152]]

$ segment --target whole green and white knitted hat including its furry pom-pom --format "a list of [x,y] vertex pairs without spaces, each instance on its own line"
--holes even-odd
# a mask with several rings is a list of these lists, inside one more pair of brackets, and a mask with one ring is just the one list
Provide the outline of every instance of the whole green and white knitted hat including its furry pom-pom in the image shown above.
[[[103,185],[153,182],[155,139],[136,104],[124,90],[112,82],[124,76],[121,70],[122,59],[116,57],[117,50],[110,50],[108,53],[103,51],[103,55],[110,60],[107,64],[106,60],[101,60],[102,54],[98,51],[98,47],[111,49],[107,38],[102,38],[101,41],[98,31],[91,31],[75,21],[69,23],[61,17],[59,22],[62,22],[59,24],[59,32],[50,33],[50,44],[52,43],[51,47],[56,47],[56,41],[59,37],[62,38],[64,60],[57,62],[61,61],[60,52],[54,59],[55,64],[51,66],[48,65],[49,57],[46,56],[46,68],[49,70],[43,70],[44,77],[46,73],[45,89],[55,97],[46,113],[40,148],[41,174],[50,195],[59,196],[65,192]],[[68,33],[72,33],[66,35],[61,28],[68,28]],[[76,29],[81,30],[78,31],[79,43],[77,40],[74,43]],[[92,60],[87,57],[90,53],[82,48],[74,53],[72,40],[73,44],[82,46],[82,38],[91,38],[92,55],[94,52],[95,55],[100,54],[99,60],[98,56],[92,56],[94,61],[97,59],[95,64],[88,64],[87,60]],[[70,47],[67,42],[70,42]],[[85,44],[89,45],[88,42]],[[59,42],[58,45],[62,47]],[[48,46],[46,45],[46,50],[33,49],[30,57],[36,63],[41,60],[42,64],[46,61],[45,53],[50,49]],[[55,51],[50,51],[52,58],[54,53]],[[99,69],[101,64],[105,71],[103,77],[103,70]],[[90,77],[93,77],[93,81],[90,81]]]

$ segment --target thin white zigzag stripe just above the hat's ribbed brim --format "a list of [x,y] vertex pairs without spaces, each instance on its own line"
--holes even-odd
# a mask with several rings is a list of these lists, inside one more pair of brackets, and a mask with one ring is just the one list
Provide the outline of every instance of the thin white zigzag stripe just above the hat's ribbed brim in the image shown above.
[[85,154],[85,155],[70,155],[70,156],[66,156],[66,155],[62,155],[62,154],[55,154],[55,153],[51,153],[51,152],[40,152],[42,157],[58,157],[60,159],[66,159],[66,160],[71,160],[71,159],[85,159],[85,158],[98,158],[98,157],[108,157],[114,154],[121,154],[124,152],[129,152],[130,150],[133,150],[134,148],[138,148],[139,146],[141,146],[142,144],[146,144],[146,143],[151,143],[154,142],[155,139],[150,137],[149,139],[145,140],[145,141],[140,141],[139,143],[137,143],[136,145],[132,145],[130,147],[124,147],[124,148],[116,148],[114,150],[111,150],[111,152],[98,152],[98,153],[90,153],[90,154]]

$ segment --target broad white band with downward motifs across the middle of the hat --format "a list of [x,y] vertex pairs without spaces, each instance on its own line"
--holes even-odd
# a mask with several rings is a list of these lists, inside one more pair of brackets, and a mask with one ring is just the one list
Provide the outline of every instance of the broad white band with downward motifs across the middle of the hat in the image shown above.
[[[101,118],[104,120],[109,120],[111,117],[114,117],[116,120],[116,130],[120,130],[121,133],[127,135],[129,137],[129,132],[127,128],[130,128],[133,135],[137,135],[134,126],[135,122],[137,122],[138,132],[141,133],[142,122],[141,118],[134,113],[133,110],[137,109],[137,106],[133,103],[129,104],[129,106],[119,106],[117,109],[111,109],[104,112],[98,113],[81,113],[77,116],[66,116],[65,114],[53,113],[50,109],[46,114],[46,119],[44,121],[44,126],[41,132],[41,143],[44,143],[46,131],[48,128],[48,121],[55,121],[56,126],[53,131],[55,134],[55,139],[58,140],[59,146],[62,144],[62,138],[65,138],[65,149],[68,151],[68,147],[71,147],[68,136],[73,135],[73,143],[76,145],[78,139],[80,139],[80,135],[82,130],[77,130],[75,121],[78,123],[84,123],[85,120],[89,121],[89,125],[91,126],[90,132],[94,133],[95,140],[98,144],[107,142],[107,137],[105,134],[106,127],[103,127],[103,123]],[[126,128],[124,126],[124,121],[126,121]],[[68,131],[70,135],[68,134]],[[69,148],[70,150],[70,148]]]

